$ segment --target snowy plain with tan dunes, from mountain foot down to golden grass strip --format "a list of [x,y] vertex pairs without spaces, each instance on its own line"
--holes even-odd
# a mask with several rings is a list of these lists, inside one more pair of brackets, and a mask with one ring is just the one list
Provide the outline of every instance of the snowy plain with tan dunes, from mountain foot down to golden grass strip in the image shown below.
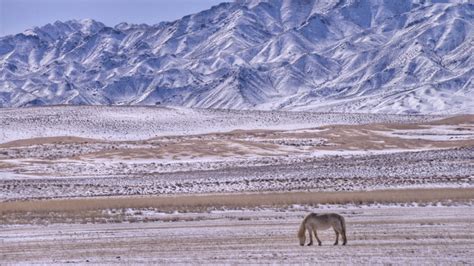
[[469,115],[69,106],[0,124],[3,200],[474,185]]

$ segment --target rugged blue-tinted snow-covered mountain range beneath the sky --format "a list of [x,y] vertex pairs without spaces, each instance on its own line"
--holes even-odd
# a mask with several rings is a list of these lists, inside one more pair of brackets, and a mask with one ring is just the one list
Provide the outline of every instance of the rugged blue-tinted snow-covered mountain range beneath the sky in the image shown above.
[[0,106],[474,113],[474,4],[239,0],[157,25],[0,38]]

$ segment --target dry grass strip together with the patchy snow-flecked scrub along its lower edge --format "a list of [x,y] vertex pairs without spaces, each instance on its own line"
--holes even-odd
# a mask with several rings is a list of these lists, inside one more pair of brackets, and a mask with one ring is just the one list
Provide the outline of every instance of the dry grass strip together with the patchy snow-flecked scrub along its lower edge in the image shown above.
[[[468,202],[474,199],[474,189],[404,189],[353,192],[286,192],[178,196],[131,196],[107,198],[79,198],[14,201],[0,203],[2,224],[54,224],[54,223],[122,223],[122,222],[174,222],[185,217],[173,215],[142,217],[141,210],[160,212],[206,212],[211,209],[245,209],[282,207],[291,204],[372,204],[418,202],[420,206],[431,202]],[[131,209],[127,212],[127,209]],[[200,217],[199,219],[205,217]],[[245,218],[243,218],[245,219]]]

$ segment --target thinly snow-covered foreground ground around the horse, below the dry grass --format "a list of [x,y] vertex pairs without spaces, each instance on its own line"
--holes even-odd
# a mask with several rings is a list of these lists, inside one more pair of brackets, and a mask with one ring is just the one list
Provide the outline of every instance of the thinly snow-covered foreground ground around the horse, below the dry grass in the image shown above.
[[[346,217],[347,246],[300,247],[310,212]],[[142,215],[146,215],[142,214]],[[474,208],[453,206],[294,206],[174,213],[168,222],[2,226],[2,263],[474,264]]]

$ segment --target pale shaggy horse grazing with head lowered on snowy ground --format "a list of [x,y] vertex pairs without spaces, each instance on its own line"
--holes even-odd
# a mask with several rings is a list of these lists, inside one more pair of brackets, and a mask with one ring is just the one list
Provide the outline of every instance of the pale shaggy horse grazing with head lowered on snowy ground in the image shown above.
[[321,246],[321,240],[318,238],[316,230],[325,230],[332,227],[334,232],[336,232],[336,242],[334,245],[337,245],[339,242],[339,234],[342,235],[342,245],[347,243],[346,238],[346,222],[344,217],[336,213],[310,213],[304,217],[300,225],[300,230],[298,231],[298,238],[300,239],[300,245],[304,246],[306,242],[306,230],[309,232],[309,243],[308,246],[313,244],[313,233],[318,241],[318,245]]

